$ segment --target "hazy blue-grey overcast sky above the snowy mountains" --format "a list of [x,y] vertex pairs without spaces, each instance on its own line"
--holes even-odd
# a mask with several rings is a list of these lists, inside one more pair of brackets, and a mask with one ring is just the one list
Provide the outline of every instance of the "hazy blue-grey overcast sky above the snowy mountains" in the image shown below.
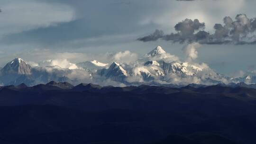
[[[33,62],[58,58],[73,63],[104,61],[102,54],[129,50],[144,55],[157,45],[185,59],[183,47],[198,42],[201,47],[195,61],[224,74],[252,70],[256,69],[255,5],[256,0],[0,0],[0,66],[15,57]],[[238,14],[250,20],[249,28],[230,31],[232,36],[225,39],[217,37],[229,29],[223,18],[236,21]],[[175,27],[186,18],[192,20],[192,31],[183,30],[183,23]],[[215,24],[224,29],[220,27],[217,33]],[[137,40],[152,36],[156,29],[164,32],[159,39]],[[194,37],[200,30],[217,41],[197,40]],[[190,32],[189,39],[175,35]],[[246,35],[245,41],[236,39],[238,32]],[[226,39],[229,42],[223,44]]]

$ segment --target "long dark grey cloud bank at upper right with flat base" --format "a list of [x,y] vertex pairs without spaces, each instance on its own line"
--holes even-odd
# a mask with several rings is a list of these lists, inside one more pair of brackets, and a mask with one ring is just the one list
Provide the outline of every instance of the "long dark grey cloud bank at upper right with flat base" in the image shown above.
[[[178,42],[200,44],[256,44],[256,18],[247,18],[245,14],[238,14],[233,20],[230,17],[223,18],[222,24],[214,25],[214,33],[204,31],[205,24],[199,22],[198,19],[185,19],[175,25],[177,33],[164,35],[161,30],[156,30],[155,33],[138,38],[137,40],[147,42],[156,41],[158,39]],[[161,34],[159,33],[161,32]]]

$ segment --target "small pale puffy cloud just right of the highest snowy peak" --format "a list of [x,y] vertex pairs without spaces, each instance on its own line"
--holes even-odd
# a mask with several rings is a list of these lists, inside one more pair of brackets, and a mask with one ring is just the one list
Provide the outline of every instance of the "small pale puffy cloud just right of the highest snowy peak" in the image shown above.
[[201,45],[199,43],[192,43],[183,47],[183,52],[184,54],[186,54],[188,61],[192,61],[197,58],[198,56],[197,49],[200,47]]

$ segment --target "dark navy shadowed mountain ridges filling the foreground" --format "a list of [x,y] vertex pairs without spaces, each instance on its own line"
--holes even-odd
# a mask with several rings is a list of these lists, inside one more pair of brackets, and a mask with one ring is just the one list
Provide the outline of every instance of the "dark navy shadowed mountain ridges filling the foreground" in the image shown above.
[[0,144],[255,144],[256,89],[235,85],[0,87]]

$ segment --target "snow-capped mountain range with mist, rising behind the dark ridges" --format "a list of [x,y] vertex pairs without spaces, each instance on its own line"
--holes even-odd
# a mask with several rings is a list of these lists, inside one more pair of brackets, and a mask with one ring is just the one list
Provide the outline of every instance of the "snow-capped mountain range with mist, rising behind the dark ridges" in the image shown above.
[[134,63],[103,63],[97,60],[69,63],[67,68],[54,61],[51,65],[30,66],[21,58],[7,63],[0,70],[1,85],[36,85],[49,81],[68,81],[72,84],[96,83],[101,85],[139,85],[139,84],[218,84],[218,83],[256,83],[256,75],[248,74],[241,78],[221,75],[205,63],[181,62],[157,46],[143,58]]

